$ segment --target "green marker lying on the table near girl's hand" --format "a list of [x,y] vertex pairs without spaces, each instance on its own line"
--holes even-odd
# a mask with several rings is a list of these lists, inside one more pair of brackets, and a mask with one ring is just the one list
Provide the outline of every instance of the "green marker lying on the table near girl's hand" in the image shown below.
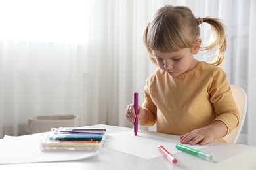
[[203,158],[204,160],[207,160],[207,161],[212,161],[213,160],[213,155],[211,154],[206,154],[204,152],[201,152],[199,150],[195,150],[193,148],[190,148],[188,146],[184,146],[182,144],[176,144],[176,148],[178,150],[182,150],[183,152],[186,152],[188,154],[192,154],[192,155],[195,155],[195,156],[198,156],[200,158]]

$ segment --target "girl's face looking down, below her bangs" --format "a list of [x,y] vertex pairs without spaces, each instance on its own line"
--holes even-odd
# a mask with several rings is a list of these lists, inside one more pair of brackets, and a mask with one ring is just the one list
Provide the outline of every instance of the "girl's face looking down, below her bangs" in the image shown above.
[[179,76],[182,73],[190,71],[198,65],[194,59],[192,48],[183,48],[177,52],[162,53],[153,50],[158,67],[166,71],[171,76]]

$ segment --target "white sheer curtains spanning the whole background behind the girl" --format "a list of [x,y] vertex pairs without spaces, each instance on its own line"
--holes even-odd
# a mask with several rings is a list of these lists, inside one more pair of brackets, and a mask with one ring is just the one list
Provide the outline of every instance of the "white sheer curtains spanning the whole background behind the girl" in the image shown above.
[[[131,127],[125,107],[135,91],[142,104],[145,80],[156,69],[142,30],[166,4],[223,20],[228,49],[222,67],[230,84],[248,94],[242,137],[256,146],[253,0],[0,0],[0,137],[26,133],[28,118],[37,115],[75,114],[79,126]],[[200,25],[203,42],[206,25]],[[202,55],[196,57],[206,59]]]

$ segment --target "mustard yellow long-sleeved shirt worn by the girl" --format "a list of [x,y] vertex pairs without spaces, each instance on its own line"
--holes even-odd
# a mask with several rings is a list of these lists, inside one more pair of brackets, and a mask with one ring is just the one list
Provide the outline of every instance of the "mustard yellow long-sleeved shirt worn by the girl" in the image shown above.
[[156,70],[146,80],[142,107],[150,117],[145,126],[156,123],[156,131],[174,135],[184,135],[214,120],[224,122],[230,133],[240,121],[226,73],[204,61],[175,77]]

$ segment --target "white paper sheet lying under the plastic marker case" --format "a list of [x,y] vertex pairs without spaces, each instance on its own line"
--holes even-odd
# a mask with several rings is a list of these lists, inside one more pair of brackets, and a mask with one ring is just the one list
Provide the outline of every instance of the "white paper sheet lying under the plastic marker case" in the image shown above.
[[5,136],[0,145],[0,164],[35,163],[51,161],[81,160],[99,153],[79,150],[56,150],[42,152],[39,141],[48,133],[37,133],[19,137]]

